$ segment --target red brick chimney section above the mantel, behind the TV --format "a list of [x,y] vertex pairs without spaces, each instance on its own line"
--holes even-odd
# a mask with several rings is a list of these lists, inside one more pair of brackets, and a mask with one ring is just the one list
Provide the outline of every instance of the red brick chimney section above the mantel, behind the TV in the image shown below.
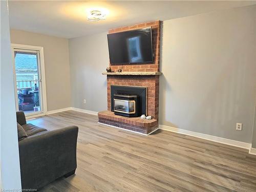
[[160,30],[161,22],[159,20],[155,22],[147,22],[143,24],[125,26],[117,29],[109,30],[109,33],[117,33],[122,31],[129,31],[135,29],[141,29],[145,27],[152,28],[152,47],[153,47],[153,62],[152,63],[133,63],[133,64],[110,64],[112,71],[117,72],[118,69],[122,69],[123,72],[159,72],[160,62]]

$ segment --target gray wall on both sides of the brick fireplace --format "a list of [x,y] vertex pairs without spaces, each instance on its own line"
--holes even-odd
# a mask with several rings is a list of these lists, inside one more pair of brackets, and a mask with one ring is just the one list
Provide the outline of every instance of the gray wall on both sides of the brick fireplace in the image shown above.
[[[163,22],[160,124],[251,142],[255,12],[250,6]],[[69,42],[74,106],[106,110],[106,33]]]

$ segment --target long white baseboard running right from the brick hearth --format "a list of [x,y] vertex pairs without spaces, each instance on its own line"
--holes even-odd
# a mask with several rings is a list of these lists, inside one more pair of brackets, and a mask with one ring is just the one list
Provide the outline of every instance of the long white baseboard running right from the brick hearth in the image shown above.
[[209,141],[215,141],[215,142],[218,142],[218,143],[232,145],[232,146],[236,146],[236,147],[240,147],[240,148],[246,148],[247,150],[249,150],[251,148],[251,143],[245,143],[245,142],[226,139],[226,138],[222,138],[222,137],[216,137],[216,136],[206,135],[206,134],[192,132],[192,131],[188,131],[188,130],[182,130],[182,129],[178,129],[178,128],[172,127],[172,126],[166,126],[166,125],[159,124],[159,129],[166,130],[166,131],[171,131],[171,132],[175,132],[175,133],[181,133],[181,134],[184,134],[184,135],[198,137],[198,138],[201,138],[201,139],[206,139],[206,140],[209,140]]

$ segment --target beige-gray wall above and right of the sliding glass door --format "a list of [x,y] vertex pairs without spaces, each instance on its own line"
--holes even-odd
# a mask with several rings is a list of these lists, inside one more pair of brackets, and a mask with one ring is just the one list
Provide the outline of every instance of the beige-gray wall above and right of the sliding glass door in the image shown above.
[[66,38],[11,30],[11,42],[44,47],[47,110],[71,106],[69,42]]

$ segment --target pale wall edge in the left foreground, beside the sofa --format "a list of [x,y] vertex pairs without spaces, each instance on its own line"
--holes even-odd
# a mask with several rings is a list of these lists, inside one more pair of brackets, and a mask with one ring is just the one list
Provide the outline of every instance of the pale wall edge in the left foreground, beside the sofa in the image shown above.
[[7,1],[1,1],[1,189],[20,189],[18,136]]

